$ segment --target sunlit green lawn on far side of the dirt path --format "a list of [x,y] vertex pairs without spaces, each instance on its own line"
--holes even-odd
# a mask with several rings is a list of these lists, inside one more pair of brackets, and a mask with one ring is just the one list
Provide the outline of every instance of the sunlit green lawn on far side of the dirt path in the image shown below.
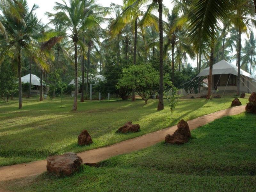
[[[170,119],[168,107],[163,111],[156,110],[157,100],[149,100],[147,105],[143,100],[86,101],[78,103],[77,112],[70,111],[72,98],[64,98],[62,108],[60,99],[43,102],[38,98],[24,99],[22,110],[17,109],[17,100],[7,104],[0,102],[0,166],[111,145],[172,126],[181,118],[189,120],[228,108],[232,100],[232,97],[210,102],[205,99],[180,100],[174,119]],[[242,99],[242,104],[247,100]],[[141,132],[115,133],[127,121],[139,123]],[[93,144],[80,147],[77,136],[84,129],[91,134]]]

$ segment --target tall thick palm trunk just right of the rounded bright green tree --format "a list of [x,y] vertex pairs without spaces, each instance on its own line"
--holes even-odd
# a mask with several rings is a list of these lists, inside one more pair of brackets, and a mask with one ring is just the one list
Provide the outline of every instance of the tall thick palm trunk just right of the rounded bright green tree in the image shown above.
[[157,110],[164,109],[164,65],[163,65],[163,0],[158,0],[159,4],[159,102]]

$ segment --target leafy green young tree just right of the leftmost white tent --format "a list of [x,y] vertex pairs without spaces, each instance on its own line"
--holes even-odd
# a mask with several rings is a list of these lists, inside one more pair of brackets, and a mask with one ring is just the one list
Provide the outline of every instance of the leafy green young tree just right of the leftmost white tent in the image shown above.
[[55,70],[54,72],[49,74],[48,81],[49,81],[49,91],[48,95],[51,99],[53,99],[54,96],[58,96],[59,94],[63,95],[64,90],[67,88],[67,85],[62,83],[61,77],[61,70]]

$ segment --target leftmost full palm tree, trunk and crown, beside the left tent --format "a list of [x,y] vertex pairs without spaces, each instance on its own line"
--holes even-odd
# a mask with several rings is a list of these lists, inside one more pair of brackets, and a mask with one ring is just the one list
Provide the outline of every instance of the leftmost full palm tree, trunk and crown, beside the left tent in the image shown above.
[[6,54],[6,52],[14,52],[16,56],[19,78],[19,108],[22,108],[21,55],[32,57],[42,68],[47,68],[48,63],[40,52],[40,47],[36,41],[37,36],[35,36],[38,30],[38,20],[34,11],[37,6],[34,5],[31,11],[29,11],[26,0],[20,0],[17,3],[22,6],[20,15],[25,24],[15,19],[12,16],[12,12],[8,12],[8,10],[2,8],[3,17],[1,20],[8,34],[8,41],[2,47],[2,55]]

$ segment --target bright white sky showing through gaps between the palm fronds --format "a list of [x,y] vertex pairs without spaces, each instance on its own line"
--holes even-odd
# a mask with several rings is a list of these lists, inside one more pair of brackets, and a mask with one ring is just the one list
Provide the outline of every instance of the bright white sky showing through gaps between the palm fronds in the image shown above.
[[[66,0],[68,2],[68,0]],[[49,19],[47,16],[45,16],[45,12],[54,12],[53,7],[55,5],[55,2],[63,3],[62,0],[27,0],[28,5],[30,8],[32,8],[33,4],[37,4],[39,8],[36,10],[36,15],[44,24],[47,24],[49,22]],[[163,0],[163,4],[169,8],[169,10],[172,10],[172,0]],[[123,0],[98,0],[98,4],[101,4],[102,6],[109,7],[111,3],[115,4],[123,4]],[[107,23],[103,25],[102,27],[106,27]],[[253,30],[254,34],[256,34],[256,29]],[[246,39],[246,35],[242,35],[242,44],[244,44],[244,40]],[[193,67],[196,67],[196,60],[188,59],[188,62],[192,64]],[[232,62],[233,64],[236,64],[236,61],[234,60]],[[255,74],[255,73],[254,73]]]

